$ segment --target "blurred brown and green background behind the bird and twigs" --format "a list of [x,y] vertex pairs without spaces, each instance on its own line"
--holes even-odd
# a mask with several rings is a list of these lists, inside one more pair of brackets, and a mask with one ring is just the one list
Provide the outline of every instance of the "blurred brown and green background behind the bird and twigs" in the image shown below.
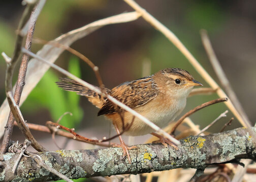
[[[256,1],[138,0],[137,3],[172,30],[210,75],[219,82],[201,42],[200,30],[208,31],[220,64],[254,124]],[[1,1],[0,52],[5,52],[10,57],[14,50],[15,30],[23,10],[21,1]],[[133,9],[126,3],[115,0],[47,1],[37,21],[34,37],[51,40],[93,21],[130,11]],[[189,71],[196,80],[202,82],[205,87],[208,86],[176,47],[142,18],[129,23],[105,26],[76,41],[71,47],[99,67],[104,84],[108,88],[146,76],[142,72],[145,63],[151,64],[150,74],[163,68],[178,67]],[[34,53],[41,48],[42,45],[32,45]],[[56,64],[83,80],[98,85],[89,66],[70,53],[64,52],[57,59]],[[5,99],[5,69],[6,63],[0,57],[0,103]],[[73,116],[64,116],[60,121],[62,125],[75,127],[76,130],[79,128],[81,130],[79,133],[88,138],[108,136],[112,128],[110,122],[103,116],[97,117],[98,109],[86,98],[58,88],[55,81],[61,76],[63,75],[52,69],[46,73],[21,106],[25,120],[44,125],[48,120],[56,122],[63,113],[69,111]],[[14,82],[16,78],[17,72]],[[216,98],[216,94],[188,98],[183,113]],[[195,113],[191,119],[203,128],[225,110],[227,110],[226,106],[220,103]],[[218,132],[231,117],[233,114],[229,112],[228,117],[220,119],[209,131]],[[240,126],[235,119],[227,129]],[[33,133],[36,139],[45,142],[47,148],[57,150],[53,143],[51,146],[47,142],[51,140],[50,134],[37,131]],[[111,134],[115,132],[111,131]],[[13,140],[22,141],[21,135],[15,127]],[[136,141],[143,143],[147,138],[149,135],[137,137]],[[63,141],[60,138],[56,139]],[[60,146],[64,143],[66,142],[60,142]],[[70,144],[72,149],[81,149],[81,144],[74,146],[73,141],[69,143],[72,143]],[[71,149],[68,146],[66,149]]]

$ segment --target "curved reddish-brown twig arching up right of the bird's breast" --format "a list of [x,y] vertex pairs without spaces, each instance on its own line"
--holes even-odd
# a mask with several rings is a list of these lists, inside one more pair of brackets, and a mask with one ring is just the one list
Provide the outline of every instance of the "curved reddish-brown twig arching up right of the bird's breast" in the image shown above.
[[181,124],[181,122],[188,116],[190,116],[191,114],[197,112],[198,110],[200,109],[203,109],[207,106],[210,106],[212,104],[216,104],[216,103],[219,103],[219,102],[226,102],[228,101],[228,98],[220,98],[220,99],[215,99],[215,100],[212,100],[212,101],[209,101],[209,102],[206,102],[204,104],[201,104],[200,106],[197,106],[195,107],[194,109],[188,111],[186,114],[184,114],[177,122],[176,124],[174,125],[174,127],[172,128],[172,131],[171,131],[171,134],[174,135],[174,132],[176,130],[176,128]]

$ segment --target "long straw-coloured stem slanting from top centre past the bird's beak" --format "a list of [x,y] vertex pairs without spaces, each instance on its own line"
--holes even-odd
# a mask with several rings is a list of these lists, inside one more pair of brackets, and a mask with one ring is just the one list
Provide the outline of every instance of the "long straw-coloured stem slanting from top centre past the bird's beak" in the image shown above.
[[[217,89],[216,93],[220,98],[226,98],[227,95],[219,88],[218,84],[212,79],[212,77],[207,73],[207,71],[200,65],[196,58],[186,49],[183,43],[178,39],[178,37],[170,31],[166,26],[156,20],[152,15],[150,15],[145,9],[141,8],[133,0],[123,0],[129,4],[133,9],[135,9],[141,16],[150,23],[154,28],[162,32],[178,49],[179,51],[187,58],[189,63],[194,66],[197,72],[205,79],[205,81],[213,88]],[[236,108],[231,101],[225,102],[231,112],[236,116],[239,122],[244,125],[243,119],[240,114],[237,112]]]

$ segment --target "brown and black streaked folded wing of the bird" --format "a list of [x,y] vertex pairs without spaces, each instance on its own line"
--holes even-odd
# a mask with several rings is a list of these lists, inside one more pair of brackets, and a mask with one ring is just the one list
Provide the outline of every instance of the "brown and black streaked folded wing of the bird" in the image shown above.
[[[157,85],[152,79],[152,76],[147,76],[131,82],[124,82],[114,87],[110,92],[110,96],[132,109],[146,104],[154,99],[157,94]],[[121,108],[115,106],[107,99],[99,111],[98,116],[122,111]]]

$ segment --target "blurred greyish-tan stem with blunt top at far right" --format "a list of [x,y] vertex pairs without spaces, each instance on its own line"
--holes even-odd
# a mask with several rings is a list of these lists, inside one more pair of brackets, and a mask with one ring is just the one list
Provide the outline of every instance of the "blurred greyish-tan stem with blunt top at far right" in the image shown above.
[[204,48],[205,51],[208,55],[208,58],[211,62],[211,65],[221,83],[221,85],[224,87],[224,89],[226,90],[230,100],[232,101],[232,103],[234,104],[235,108],[237,109],[237,111],[239,112],[239,114],[241,115],[243,122],[244,122],[244,126],[246,127],[250,127],[251,126],[251,122],[249,121],[246,113],[243,110],[243,107],[241,106],[225,72],[223,71],[221,65],[219,64],[219,61],[213,51],[210,39],[207,35],[207,31],[206,30],[201,30],[201,37],[202,37],[202,42],[204,44]]

